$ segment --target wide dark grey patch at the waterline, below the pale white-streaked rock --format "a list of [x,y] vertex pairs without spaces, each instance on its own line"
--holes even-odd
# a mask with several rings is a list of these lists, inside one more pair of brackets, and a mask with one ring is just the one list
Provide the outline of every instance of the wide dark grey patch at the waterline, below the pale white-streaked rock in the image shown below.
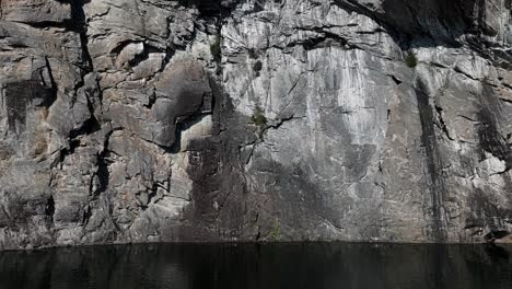
[[[254,193],[261,198],[264,210],[258,211],[258,227],[265,241],[311,240],[319,224],[342,230],[339,208],[333,207],[333,195],[311,180],[309,167],[301,164],[282,164],[258,154],[251,166],[257,184]],[[344,209],[347,209],[345,207]],[[362,232],[366,240],[373,232]]]

